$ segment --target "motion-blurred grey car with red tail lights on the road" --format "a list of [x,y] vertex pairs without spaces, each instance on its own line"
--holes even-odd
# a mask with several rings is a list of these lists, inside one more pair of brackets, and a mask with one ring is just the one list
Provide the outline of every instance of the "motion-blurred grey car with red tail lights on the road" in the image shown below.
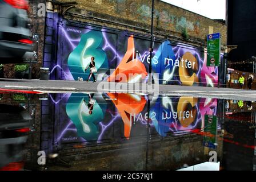
[[0,63],[20,63],[31,52],[26,0],[0,0]]

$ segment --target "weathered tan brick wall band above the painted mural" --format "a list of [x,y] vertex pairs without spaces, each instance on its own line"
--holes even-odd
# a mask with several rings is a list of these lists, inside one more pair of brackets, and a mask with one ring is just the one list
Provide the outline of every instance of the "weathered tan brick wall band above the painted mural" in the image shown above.
[[[71,1],[60,0],[59,2]],[[85,15],[87,18],[93,16],[150,30],[151,1],[78,0],[75,2],[78,3],[75,13]],[[97,19],[94,20],[97,21]],[[111,26],[111,23],[108,26]],[[166,34],[166,36],[179,38],[182,37],[182,31],[186,29],[190,42],[196,40],[205,44],[209,31],[221,32],[223,45],[226,45],[227,41],[225,24],[158,0],[155,1],[154,27],[155,34]]]

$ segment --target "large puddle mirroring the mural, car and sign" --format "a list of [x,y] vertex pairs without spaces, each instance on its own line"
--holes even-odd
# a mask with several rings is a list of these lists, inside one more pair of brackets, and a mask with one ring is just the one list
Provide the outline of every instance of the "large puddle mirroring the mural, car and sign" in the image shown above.
[[129,93],[0,98],[1,170],[256,170],[254,101]]

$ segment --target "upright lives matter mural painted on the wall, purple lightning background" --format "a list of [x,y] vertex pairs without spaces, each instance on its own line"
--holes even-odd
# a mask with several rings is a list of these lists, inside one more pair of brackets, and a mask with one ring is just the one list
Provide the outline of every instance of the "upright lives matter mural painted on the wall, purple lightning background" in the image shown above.
[[[127,32],[63,24],[59,27],[62,32],[59,44],[65,46],[52,71],[61,67],[61,79],[86,78],[88,73],[84,68],[90,56],[94,56],[99,70],[97,80],[102,80],[104,75],[109,81],[147,81],[149,40]],[[153,73],[159,74],[160,84],[215,86],[218,81],[217,68],[206,67],[204,49],[169,40],[154,40],[152,67]],[[110,73],[110,69],[114,69],[114,73]],[[129,78],[129,73],[135,75]],[[127,79],[119,80],[120,75],[126,75]]]

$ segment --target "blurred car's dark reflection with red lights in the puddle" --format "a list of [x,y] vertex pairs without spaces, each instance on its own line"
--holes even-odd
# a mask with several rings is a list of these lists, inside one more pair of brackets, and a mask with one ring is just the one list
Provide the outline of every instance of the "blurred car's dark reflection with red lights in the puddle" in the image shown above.
[[0,171],[23,169],[30,119],[23,107],[0,104]]

